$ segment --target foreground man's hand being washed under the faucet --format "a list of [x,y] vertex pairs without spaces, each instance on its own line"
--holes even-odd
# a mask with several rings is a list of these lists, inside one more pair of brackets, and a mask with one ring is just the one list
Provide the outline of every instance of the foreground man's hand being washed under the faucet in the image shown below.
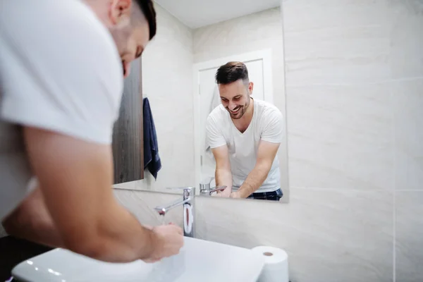
[[165,257],[178,255],[180,248],[183,247],[182,228],[170,223],[167,226],[155,226],[151,230],[156,235],[155,247],[152,255],[143,259],[145,262],[158,262]]

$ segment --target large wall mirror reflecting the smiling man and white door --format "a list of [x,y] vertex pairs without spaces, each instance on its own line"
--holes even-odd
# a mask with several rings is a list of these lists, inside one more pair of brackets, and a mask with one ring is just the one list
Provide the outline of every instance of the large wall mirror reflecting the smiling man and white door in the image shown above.
[[156,1],[142,91],[161,169],[116,188],[288,202],[281,1],[225,3]]

